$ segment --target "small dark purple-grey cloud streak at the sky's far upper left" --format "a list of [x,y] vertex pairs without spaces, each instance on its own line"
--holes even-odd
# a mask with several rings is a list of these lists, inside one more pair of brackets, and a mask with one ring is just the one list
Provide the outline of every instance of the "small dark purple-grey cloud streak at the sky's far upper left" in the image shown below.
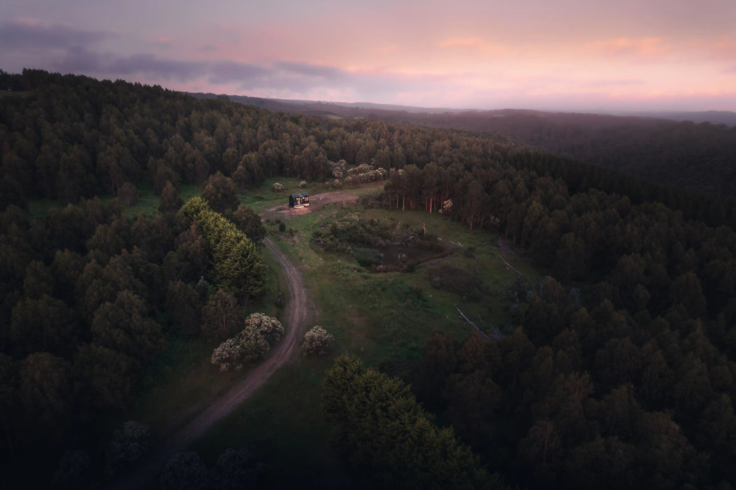
[[0,24],[0,44],[3,49],[70,48],[85,46],[113,37],[110,32],[71,29],[62,25],[43,26],[21,22]]

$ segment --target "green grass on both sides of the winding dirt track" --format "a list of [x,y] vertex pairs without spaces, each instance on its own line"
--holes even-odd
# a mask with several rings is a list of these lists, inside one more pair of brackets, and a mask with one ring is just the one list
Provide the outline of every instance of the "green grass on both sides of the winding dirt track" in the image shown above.
[[[298,190],[296,180],[279,180],[286,193],[273,193],[266,182],[258,191],[247,193],[243,202],[255,210],[284,205],[286,196]],[[292,188],[293,186],[293,188]],[[316,187],[316,186],[315,186]],[[307,188],[314,194],[321,189]],[[378,193],[381,185],[350,189],[349,193]],[[396,230],[424,227],[445,242],[452,242],[454,252],[442,259],[422,263],[411,273],[375,274],[344,254],[325,252],[312,243],[311,235],[324,224],[346,216],[378,219]],[[508,319],[503,311],[502,294],[513,285],[516,274],[506,269],[498,258],[498,236],[484,230],[470,232],[444,216],[420,211],[362,209],[359,205],[332,204],[309,213],[272,213],[286,224],[266,224],[269,236],[302,269],[308,292],[319,310],[316,324],[336,337],[335,353],[349,352],[364,358],[367,365],[382,361],[417,361],[426,341],[435,329],[453,332],[464,338],[470,327],[459,319],[456,306],[481,327],[491,325],[501,330]],[[266,255],[269,274],[269,297],[254,310],[277,314],[273,299],[283,291],[285,283],[277,266]],[[525,260],[507,258],[527,274],[530,282],[537,276]],[[477,300],[433,288],[433,268],[445,264],[470,271],[481,278],[482,292]],[[171,413],[183,406],[196,404],[211,393],[224,391],[241,373],[217,372],[209,363],[211,348],[206,344],[171,346],[168,363],[154,375],[156,388],[144,397],[138,419],[156,430],[169,424]],[[336,454],[330,448],[330,425],[322,413],[321,380],[330,366],[328,358],[306,358],[298,355],[294,363],[280,369],[266,386],[234,413],[220,422],[197,442],[194,450],[213,464],[227,447],[246,447],[266,463],[266,486],[293,488],[321,486],[337,488],[348,480],[340,472]],[[325,476],[328,475],[328,476]]]

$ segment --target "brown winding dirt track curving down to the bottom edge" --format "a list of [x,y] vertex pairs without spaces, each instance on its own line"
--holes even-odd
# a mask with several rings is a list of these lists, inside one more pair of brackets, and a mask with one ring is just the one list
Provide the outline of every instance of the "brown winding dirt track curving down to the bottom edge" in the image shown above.
[[122,480],[118,480],[112,488],[115,489],[142,489],[152,486],[154,479],[163,471],[166,462],[177,452],[186,450],[194,441],[202,437],[216,422],[223,419],[238,408],[244,400],[250,397],[258,388],[276,372],[281,366],[289,362],[297,349],[305,328],[313,320],[314,308],[305,291],[304,277],[294,267],[286,255],[270,239],[264,238],[263,244],[283,268],[286,285],[289,289],[289,298],[284,308],[283,326],[286,336],[281,339],[276,349],[266,360],[253,367],[236,386],[230,388],[222,397],[211,400],[210,405],[204,408],[194,419],[187,422],[179,430],[162,441],[162,444],[152,455],[148,463],[138,466],[134,472]]

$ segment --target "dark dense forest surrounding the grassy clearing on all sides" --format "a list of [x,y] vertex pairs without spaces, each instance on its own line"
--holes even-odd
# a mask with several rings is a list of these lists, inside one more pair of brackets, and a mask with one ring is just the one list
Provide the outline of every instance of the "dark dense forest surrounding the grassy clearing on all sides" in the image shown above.
[[[431,487],[361,442],[397,413],[427,449],[396,457],[427,464],[437,451],[468,455],[445,468],[462,472],[458,486],[467,488],[736,485],[732,197],[643,181],[492,132],[269,112],[38,70],[2,75],[14,89],[0,95],[0,465],[8,478],[42,466],[57,486],[77,488],[68,475],[78,478],[80,467],[96,469],[85,473],[92,486],[124,471],[110,427],[122,426],[166,345],[224,339],[207,312],[263,294],[265,230],[237,196],[286,176],[342,186],[385,177],[373,205],[442,212],[494,232],[543,277],[520,275],[503,294],[499,339],[437,331],[415,362],[364,369],[336,360],[325,405],[356,481],[375,474],[386,487]],[[676,155],[697,155],[682,128],[667,133],[687,146]],[[648,134],[641,144],[655,149]],[[731,130],[712,140],[724,168],[735,163],[734,139]],[[209,207],[195,201],[180,212],[183,185],[201,186]],[[159,212],[126,217],[124,206],[146,189],[160,196]],[[39,201],[60,207],[34,216]],[[223,257],[220,236],[237,244],[240,262]],[[350,375],[335,377],[343,371]],[[337,383],[346,393],[378,390],[375,404],[386,411],[364,412],[375,404],[360,396],[330,398]]]

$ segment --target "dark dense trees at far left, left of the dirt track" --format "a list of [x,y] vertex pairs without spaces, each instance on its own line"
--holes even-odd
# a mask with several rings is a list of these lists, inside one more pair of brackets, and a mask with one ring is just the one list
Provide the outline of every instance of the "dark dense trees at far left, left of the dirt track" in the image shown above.
[[[183,216],[133,221],[116,202],[99,199],[49,210],[43,219],[13,205],[0,213],[8,260],[0,280],[3,471],[13,461],[11,475],[30,474],[38,486],[49,486],[43,475],[54,475],[72,439],[76,447],[104,452],[99,421],[130,408],[167,338],[199,335],[206,296],[193,283],[168,277],[194,281],[185,273],[193,264],[166,258],[201,240]],[[197,279],[210,275],[206,254],[200,267]],[[39,458],[50,466],[29,473]],[[58,484],[99,479],[102,464],[93,460],[90,468],[85,461],[68,452]]]

